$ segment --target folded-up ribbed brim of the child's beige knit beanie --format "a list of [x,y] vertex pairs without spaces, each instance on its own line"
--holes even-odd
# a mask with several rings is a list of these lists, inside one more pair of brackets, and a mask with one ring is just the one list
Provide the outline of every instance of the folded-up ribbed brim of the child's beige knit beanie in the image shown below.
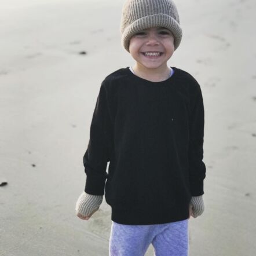
[[164,27],[169,29],[174,35],[174,50],[178,48],[182,38],[180,25],[166,14],[154,14],[142,17],[126,27],[122,34],[122,42],[125,49],[129,52],[130,39],[134,34],[152,27]]

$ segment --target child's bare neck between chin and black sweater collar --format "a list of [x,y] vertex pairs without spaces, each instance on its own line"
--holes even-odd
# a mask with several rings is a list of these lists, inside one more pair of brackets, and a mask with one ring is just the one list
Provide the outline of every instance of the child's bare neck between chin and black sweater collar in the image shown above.
[[144,66],[136,63],[133,66],[133,71],[140,78],[151,82],[161,82],[170,77],[171,69],[167,65],[159,68],[145,68]]

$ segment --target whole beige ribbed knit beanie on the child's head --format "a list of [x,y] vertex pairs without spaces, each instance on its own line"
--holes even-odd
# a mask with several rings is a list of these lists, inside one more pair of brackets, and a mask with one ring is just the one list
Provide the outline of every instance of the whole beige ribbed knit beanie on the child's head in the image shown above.
[[174,35],[174,50],[180,45],[180,17],[172,0],[127,0],[123,5],[120,31],[122,44],[129,52],[131,37],[147,28],[168,28]]

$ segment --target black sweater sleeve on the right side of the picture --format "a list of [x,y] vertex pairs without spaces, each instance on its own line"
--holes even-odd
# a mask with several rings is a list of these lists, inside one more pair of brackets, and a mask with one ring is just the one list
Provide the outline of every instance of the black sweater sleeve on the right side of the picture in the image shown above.
[[189,185],[192,196],[203,195],[203,180],[206,177],[206,166],[203,162],[204,106],[200,86],[192,94],[192,111],[189,134]]

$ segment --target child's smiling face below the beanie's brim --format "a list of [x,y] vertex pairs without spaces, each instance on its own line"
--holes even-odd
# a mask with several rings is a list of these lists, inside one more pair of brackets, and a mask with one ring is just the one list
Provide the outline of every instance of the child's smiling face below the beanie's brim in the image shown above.
[[129,51],[144,68],[166,68],[174,52],[174,36],[167,28],[148,28],[133,35]]

